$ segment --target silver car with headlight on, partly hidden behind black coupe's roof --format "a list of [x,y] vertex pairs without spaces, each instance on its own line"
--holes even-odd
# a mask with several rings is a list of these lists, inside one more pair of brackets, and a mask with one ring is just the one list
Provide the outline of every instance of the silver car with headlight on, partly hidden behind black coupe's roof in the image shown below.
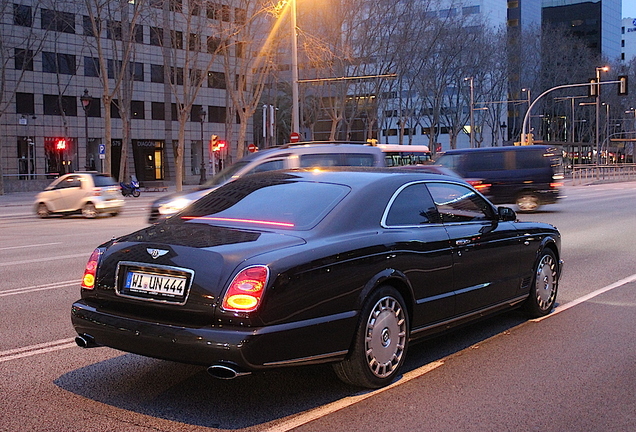
[[280,169],[329,166],[381,167],[385,166],[385,161],[380,149],[364,144],[308,142],[260,150],[228,166],[195,189],[158,198],[150,206],[148,222],[170,217],[215,188],[240,177]]

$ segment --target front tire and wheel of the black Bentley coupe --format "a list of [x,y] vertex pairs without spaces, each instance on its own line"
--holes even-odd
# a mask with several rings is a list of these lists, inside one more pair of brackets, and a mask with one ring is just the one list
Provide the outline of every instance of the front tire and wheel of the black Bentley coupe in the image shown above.
[[524,310],[530,318],[550,313],[556,302],[558,285],[559,262],[552,250],[544,249],[534,266],[530,295],[524,303]]

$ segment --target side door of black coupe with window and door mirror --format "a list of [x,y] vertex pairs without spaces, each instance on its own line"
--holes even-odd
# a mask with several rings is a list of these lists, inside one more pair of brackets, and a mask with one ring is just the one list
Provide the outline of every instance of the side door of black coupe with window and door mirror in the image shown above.
[[456,314],[488,308],[518,295],[523,243],[512,222],[468,186],[428,185],[453,255]]

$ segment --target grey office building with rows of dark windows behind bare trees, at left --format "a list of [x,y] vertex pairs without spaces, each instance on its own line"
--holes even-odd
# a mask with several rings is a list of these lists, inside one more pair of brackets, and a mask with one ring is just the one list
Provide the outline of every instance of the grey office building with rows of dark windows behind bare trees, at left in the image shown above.
[[[162,2],[151,2],[143,19],[139,18],[139,24],[134,26],[130,79],[124,80],[131,95],[130,140],[126,151],[122,152],[125,134],[118,101],[109,107],[110,174],[114,177],[119,174],[122,153],[127,153],[128,174],[136,175],[142,183],[174,182],[173,146],[179,136],[177,103],[183,101],[177,95],[185,94],[183,59],[194,58],[194,52],[198,63],[190,60],[190,74],[196,71],[207,77],[193,100],[185,126],[183,181],[198,183],[201,170],[210,173],[215,168],[208,147],[212,135],[226,138],[228,122],[237,130],[237,116],[228,115],[223,61],[212,61],[218,38],[210,23],[244,20],[244,12],[216,3],[210,3],[212,6],[206,10],[205,4],[199,3],[196,10],[188,11],[180,0],[172,0],[170,10],[164,11]],[[126,26],[121,23],[128,13],[132,16],[136,12],[120,11],[112,20],[98,20],[94,26],[84,2],[51,2],[49,6],[35,0],[7,3],[7,11],[0,18],[1,37],[10,54],[4,66],[6,91],[0,117],[0,172],[6,192],[40,189],[42,184],[65,172],[104,170],[105,86],[100,77],[96,40],[104,42],[102,47],[123,46],[122,29]],[[202,31],[188,34],[185,25],[183,31],[178,28],[183,21],[179,16],[186,14],[187,19],[196,15]],[[177,27],[164,35],[166,19],[171,27]],[[97,35],[95,28],[99,29]],[[171,45],[169,55],[166,40]],[[111,48],[101,55],[108,57],[107,74],[112,91],[121,52]],[[170,64],[167,58],[175,60]],[[185,74],[188,80],[188,72]]]

